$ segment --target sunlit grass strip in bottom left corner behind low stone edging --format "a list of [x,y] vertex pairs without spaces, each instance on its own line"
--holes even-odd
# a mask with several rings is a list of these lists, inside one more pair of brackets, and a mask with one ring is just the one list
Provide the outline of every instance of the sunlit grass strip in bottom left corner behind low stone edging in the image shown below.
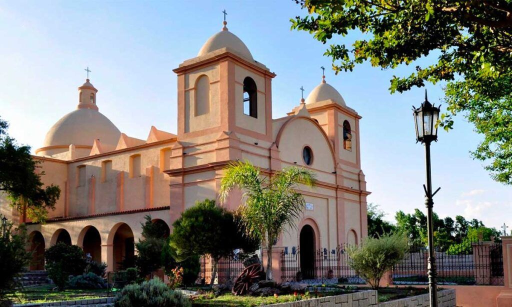
[[54,291],[54,287],[55,285],[53,284],[45,284],[44,286],[25,288],[9,294],[7,298],[12,300],[15,304],[26,304],[90,299],[107,296],[106,289]]

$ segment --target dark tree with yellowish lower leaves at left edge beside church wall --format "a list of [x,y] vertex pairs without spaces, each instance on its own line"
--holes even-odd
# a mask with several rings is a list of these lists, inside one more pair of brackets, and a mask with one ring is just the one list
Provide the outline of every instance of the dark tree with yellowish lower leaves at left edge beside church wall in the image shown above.
[[18,212],[26,212],[33,222],[44,222],[48,210],[55,209],[60,188],[44,187],[37,172],[39,161],[30,155],[29,146],[17,145],[7,134],[8,124],[0,118],[0,192],[7,194],[9,203]]

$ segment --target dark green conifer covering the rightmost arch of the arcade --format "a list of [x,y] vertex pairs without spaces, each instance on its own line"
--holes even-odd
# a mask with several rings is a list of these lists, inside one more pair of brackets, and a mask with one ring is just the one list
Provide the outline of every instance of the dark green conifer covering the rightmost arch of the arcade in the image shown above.
[[139,275],[144,277],[162,267],[162,249],[165,246],[168,228],[161,223],[153,223],[151,215],[144,217],[142,238],[135,244],[137,256],[135,266]]

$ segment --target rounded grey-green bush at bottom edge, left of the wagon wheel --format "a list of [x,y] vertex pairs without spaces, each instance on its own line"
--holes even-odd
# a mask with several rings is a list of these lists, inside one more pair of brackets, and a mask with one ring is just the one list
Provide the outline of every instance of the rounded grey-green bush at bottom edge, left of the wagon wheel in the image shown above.
[[116,307],[189,307],[190,301],[181,293],[170,290],[160,279],[129,284],[117,295]]

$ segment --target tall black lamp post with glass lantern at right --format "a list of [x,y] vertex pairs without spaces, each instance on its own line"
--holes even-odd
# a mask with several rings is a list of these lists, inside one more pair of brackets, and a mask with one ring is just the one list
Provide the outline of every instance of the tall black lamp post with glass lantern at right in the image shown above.
[[416,143],[421,142],[425,146],[425,168],[426,168],[426,186],[423,185],[425,190],[425,206],[427,210],[427,232],[429,237],[429,293],[430,293],[430,306],[437,307],[437,285],[436,285],[436,257],[434,251],[434,229],[432,227],[432,207],[434,201],[433,196],[439,191],[438,188],[432,193],[432,175],[430,168],[430,143],[437,142],[437,127],[436,123],[439,118],[440,106],[435,107],[429,102],[426,97],[425,101],[420,107],[413,106],[414,124],[416,127]]

